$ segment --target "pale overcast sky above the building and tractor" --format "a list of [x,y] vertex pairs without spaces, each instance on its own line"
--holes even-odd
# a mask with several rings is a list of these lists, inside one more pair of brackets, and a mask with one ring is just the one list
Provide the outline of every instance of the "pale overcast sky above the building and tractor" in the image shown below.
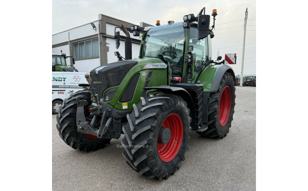
[[[156,20],[160,24],[167,21],[183,21],[185,14],[197,14],[205,6],[205,14],[212,14],[217,9],[214,34],[212,39],[212,55],[224,58],[227,53],[237,53],[237,64],[233,67],[235,74],[241,74],[243,25],[245,10],[248,7],[248,20],[245,41],[244,74],[256,73],[256,2],[255,0],[53,0],[52,1],[52,34],[74,28],[95,20],[98,14],[105,14],[120,20],[139,24],[146,22],[152,25]],[[240,22],[234,22],[240,21]],[[232,22],[228,24],[222,24]],[[211,16],[210,26],[213,25]],[[253,25],[253,26],[249,26]],[[237,27],[239,26],[239,27]],[[235,27],[235,28],[231,28]],[[227,29],[228,28],[228,29]],[[222,30],[224,29],[224,30]],[[249,31],[248,31],[249,30]],[[240,31],[240,32],[235,32]],[[231,33],[233,32],[233,33]],[[225,34],[227,33],[227,34]],[[221,35],[220,35],[221,34]],[[249,45],[247,45],[249,44]],[[234,47],[237,46],[237,47]],[[230,48],[225,48],[230,47]]]

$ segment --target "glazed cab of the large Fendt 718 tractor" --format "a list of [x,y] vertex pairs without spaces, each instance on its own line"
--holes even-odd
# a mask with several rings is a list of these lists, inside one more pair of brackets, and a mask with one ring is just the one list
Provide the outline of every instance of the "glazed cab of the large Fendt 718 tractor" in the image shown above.
[[188,29],[183,28],[183,24],[150,28],[144,34],[139,57],[160,58],[168,65],[169,79],[186,76],[187,82],[195,83],[205,62],[211,59],[210,35],[199,40],[197,23],[190,23]]

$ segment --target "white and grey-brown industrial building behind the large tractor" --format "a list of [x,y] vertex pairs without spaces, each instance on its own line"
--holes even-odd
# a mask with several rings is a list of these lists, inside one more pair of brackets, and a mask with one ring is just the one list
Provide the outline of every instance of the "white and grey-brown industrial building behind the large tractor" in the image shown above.
[[[90,72],[92,69],[117,61],[114,52],[124,57],[124,37],[123,31],[120,31],[120,47],[115,48],[115,27],[123,24],[130,27],[132,24],[107,15],[99,14],[98,20],[74,27],[69,30],[52,35],[52,53],[60,54],[60,50],[66,55],[74,56],[75,65],[80,72]],[[140,22],[141,27],[152,26]],[[119,29],[117,29],[118,31]],[[99,35],[100,34],[100,35]],[[138,58],[140,50],[140,36],[132,38],[132,58]],[[72,59],[67,59],[67,65],[72,65]]]

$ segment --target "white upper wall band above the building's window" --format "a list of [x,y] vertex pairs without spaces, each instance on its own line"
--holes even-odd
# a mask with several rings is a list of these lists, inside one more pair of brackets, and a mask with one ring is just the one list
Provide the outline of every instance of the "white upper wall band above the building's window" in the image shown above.
[[80,39],[83,37],[98,35],[98,21],[93,22],[96,26],[96,31],[93,30],[91,24],[86,24],[73,28],[55,35],[52,35],[52,45],[64,43],[68,41],[68,32],[70,32],[70,40]]

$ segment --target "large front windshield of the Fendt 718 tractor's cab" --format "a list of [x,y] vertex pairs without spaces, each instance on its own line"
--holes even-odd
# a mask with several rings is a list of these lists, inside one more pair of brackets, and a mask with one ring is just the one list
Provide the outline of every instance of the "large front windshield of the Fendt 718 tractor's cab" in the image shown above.
[[171,69],[169,75],[182,76],[185,32],[182,22],[151,28],[144,38],[141,58],[163,55]]

